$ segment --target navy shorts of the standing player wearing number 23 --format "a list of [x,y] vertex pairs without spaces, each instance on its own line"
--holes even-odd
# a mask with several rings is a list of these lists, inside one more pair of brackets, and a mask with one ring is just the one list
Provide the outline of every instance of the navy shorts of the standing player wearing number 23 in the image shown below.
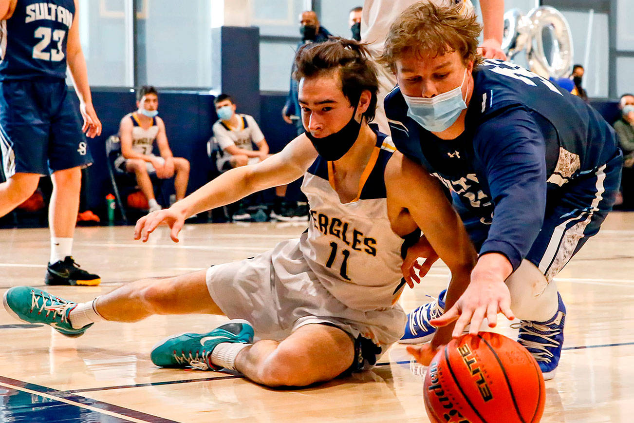
[[0,146],[4,175],[49,175],[89,166],[79,111],[63,79],[0,82]]

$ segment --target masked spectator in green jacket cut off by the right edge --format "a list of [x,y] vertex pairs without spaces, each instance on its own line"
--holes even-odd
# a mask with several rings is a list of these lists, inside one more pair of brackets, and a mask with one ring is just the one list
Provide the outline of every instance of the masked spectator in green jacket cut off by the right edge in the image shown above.
[[[621,117],[614,122],[619,146],[623,150],[621,203],[624,209],[634,208],[634,95],[623,94],[619,101]],[[617,199],[618,202],[619,198]]]

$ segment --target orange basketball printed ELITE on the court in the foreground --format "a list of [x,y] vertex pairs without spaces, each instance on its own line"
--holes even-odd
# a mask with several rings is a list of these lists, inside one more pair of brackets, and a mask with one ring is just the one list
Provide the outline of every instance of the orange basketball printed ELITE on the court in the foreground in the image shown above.
[[536,423],[546,396],[533,356],[493,332],[453,339],[430,363],[424,389],[432,423]]

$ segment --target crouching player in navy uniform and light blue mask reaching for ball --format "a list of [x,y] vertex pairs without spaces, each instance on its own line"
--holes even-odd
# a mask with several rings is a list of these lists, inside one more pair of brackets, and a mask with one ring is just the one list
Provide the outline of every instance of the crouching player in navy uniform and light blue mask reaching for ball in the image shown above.
[[[403,341],[455,319],[455,335],[469,322],[477,332],[502,311],[521,319],[519,342],[551,379],[566,316],[553,277],[612,209],[622,156],[614,131],[577,96],[512,63],[482,61],[479,33],[459,5],[421,2],[385,41],[382,62],[399,83],[385,98],[394,144],[447,186],[479,249],[455,306],[432,320],[441,294],[412,311]],[[436,347],[411,352],[426,362]]]

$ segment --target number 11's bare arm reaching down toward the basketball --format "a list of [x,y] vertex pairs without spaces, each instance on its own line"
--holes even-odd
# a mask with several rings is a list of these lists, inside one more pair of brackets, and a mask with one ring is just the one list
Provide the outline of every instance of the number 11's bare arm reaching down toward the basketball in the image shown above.
[[[467,289],[470,273],[477,261],[477,253],[462,220],[451,207],[439,181],[399,152],[394,153],[387,164],[385,186],[394,231],[399,233],[394,223],[406,225],[403,216],[409,214],[410,219],[425,234],[433,251],[450,268],[451,282],[446,295],[446,308],[451,308]],[[395,216],[400,216],[400,222],[394,219]],[[446,322],[449,323],[451,321]],[[432,347],[450,341],[451,329],[453,327],[450,325],[437,330]]]

